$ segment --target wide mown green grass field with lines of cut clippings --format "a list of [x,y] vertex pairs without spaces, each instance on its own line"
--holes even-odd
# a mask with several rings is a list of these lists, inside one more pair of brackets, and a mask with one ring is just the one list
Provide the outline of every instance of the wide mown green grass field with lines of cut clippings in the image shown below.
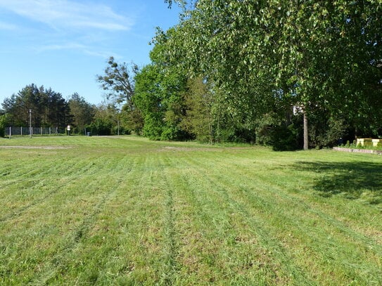
[[0,139],[0,285],[382,285],[382,157]]

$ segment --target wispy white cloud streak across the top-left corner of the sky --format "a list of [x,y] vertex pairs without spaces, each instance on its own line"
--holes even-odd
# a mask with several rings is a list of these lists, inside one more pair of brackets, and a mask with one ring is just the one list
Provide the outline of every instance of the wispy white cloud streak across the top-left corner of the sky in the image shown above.
[[[85,4],[86,3],[86,4]],[[0,0],[0,8],[12,11],[56,29],[130,30],[132,18],[126,18],[103,4],[70,0]]]

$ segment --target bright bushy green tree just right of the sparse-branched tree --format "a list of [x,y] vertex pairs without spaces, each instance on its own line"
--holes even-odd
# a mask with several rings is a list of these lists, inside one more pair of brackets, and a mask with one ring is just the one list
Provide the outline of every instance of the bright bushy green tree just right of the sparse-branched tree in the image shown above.
[[136,74],[134,105],[144,118],[143,134],[155,140],[184,140],[189,134],[182,129],[186,74],[167,64],[163,46],[151,51],[150,65]]

